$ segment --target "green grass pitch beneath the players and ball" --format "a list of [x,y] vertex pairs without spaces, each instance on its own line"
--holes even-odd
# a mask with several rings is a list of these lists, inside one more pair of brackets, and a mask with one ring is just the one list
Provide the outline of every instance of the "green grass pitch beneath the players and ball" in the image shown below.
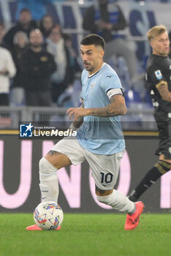
[[169,256],[171,215],[142,214],[124,230],[126,214],[64,214],[61,230],[28,231],[32,214],[0,214],[0,256]]

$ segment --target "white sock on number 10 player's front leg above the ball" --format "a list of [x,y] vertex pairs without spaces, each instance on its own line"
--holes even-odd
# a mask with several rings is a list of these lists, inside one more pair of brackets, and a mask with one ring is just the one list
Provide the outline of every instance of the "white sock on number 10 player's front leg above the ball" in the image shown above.
[[39,188],[42,201],[51,200],[58,203],[58,177],[56,167],[44,157],[39,161]]

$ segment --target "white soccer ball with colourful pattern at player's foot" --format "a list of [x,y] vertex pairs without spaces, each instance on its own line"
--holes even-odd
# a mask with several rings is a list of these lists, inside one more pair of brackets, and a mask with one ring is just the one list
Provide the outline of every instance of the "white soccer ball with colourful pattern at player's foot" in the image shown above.
[[61,225],[64,214],[60,206],[53,201],[39,203],[34,210],[34,222],[42,230],[53,230]]

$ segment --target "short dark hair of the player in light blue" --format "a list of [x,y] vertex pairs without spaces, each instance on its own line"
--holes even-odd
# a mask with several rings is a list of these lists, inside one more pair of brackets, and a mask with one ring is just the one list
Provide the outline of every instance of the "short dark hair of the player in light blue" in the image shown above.
[[105,47],[104,39],[98,34],[88,34],[86,37],[84,37],[81,42],[81,45],[99,45],[103,48]]

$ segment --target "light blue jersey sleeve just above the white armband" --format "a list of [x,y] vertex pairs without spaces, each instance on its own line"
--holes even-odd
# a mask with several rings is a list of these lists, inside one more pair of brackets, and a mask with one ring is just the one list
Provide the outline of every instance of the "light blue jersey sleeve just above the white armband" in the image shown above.
[[107,91],[110,91],[111,89],[121,89],[121,90],[118,90],[121,92],[123,89],[121,86],[121,80],[118,78],[118,75],[115,72],[105,73],[101,81],[101,86],[102,86],[102,89],[104,89],[106,94],[107,94]]

